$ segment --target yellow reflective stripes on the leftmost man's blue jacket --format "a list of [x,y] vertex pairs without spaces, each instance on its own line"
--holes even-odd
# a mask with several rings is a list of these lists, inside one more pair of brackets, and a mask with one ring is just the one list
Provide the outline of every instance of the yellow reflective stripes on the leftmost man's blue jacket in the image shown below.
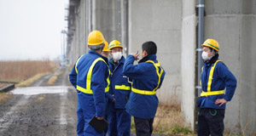
[[[80,57],[80,58],[81,58],[81,57]],[[80,59],[80,58],[79,58],[79,59]],[[77,63],[76,63],[76,66],[77,66],[78,63],[79,63],[79,59],[78,59],[78,61],[77,61]],[[94,66],[96,65],[96,63],[97,63],[98,61],[100,61],[100,60],[106,63],[106,61],[105,61],[104,59],[102,59],[102,58],[97,58],[97,59],[95,59],[95,60],[93,61],[93,63],[90,65],[89,71],[88,71],[88,73],[87,73],[86,88],[82,88],[82,87],[80,87],[79,85],[77,85],[77,89],[78,89],[79,91],[81,91],[81,92],[83,92],[83,93],[85,93],[85,94],[93,94],[92,90],[90,89],[90,82],[91,82],[92,70],[93,70]],[[106,63],[106,65],[107,65],[107,63]],[[77,71],[77,69],[76,69],[76,71]],[[78,72],[79,72],[79,71],[77,71],[77,73],[78,73]],[[108,70],[108,72],[109,72],[108,78],[107,78],[108,86],[105,88],[105,92],[108,92],[108,90],[109,90],[109,84],[110,84],[110,82],[109,82],[110,71]]]

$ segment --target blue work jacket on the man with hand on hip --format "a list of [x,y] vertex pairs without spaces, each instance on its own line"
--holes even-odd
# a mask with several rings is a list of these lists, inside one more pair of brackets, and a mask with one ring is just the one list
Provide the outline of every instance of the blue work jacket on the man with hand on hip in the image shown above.
[[[210,61],[207,61],[203,65],[203,71],[201,74],[201,87],[204,92],[207,92],[207,83],[209,79],[209,73],[212,65],[218,60],[218,54],[216,54]],[[225,90],[225,94],[201,96],[197,100],[197,105],[200,108],[212,108],[212,109],[225,109],[226,105],[215,105],[216,99],[225,99],[230,101],[236,90],[236,77],[230,72],[228,67],[224,65],[222,61],[218,62],[215,66],[213,76],[211,92],[218,90]]]

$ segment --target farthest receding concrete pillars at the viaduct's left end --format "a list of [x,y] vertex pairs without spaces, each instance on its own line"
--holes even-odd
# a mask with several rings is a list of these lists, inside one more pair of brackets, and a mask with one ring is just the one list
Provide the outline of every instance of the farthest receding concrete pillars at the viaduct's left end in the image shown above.
[[69,26],[67,30],[67,52],[69,62],[74,64],[76,59],[88,51],[86,42],[89,31],[89,1],[71,1],[69,6]]

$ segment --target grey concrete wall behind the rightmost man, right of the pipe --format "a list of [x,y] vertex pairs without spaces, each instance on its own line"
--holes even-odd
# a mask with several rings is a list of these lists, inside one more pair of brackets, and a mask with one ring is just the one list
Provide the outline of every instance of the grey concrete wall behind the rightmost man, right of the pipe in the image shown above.
[[236,94],[227,105],[226,130],[256,132],[256,0],[206,0],[205,38],[220,44],[222,59],[235,75]]

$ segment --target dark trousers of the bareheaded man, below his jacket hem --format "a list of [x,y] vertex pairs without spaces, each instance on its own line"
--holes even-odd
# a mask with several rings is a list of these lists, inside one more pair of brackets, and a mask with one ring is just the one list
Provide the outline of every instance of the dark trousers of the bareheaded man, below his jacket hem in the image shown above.
[[153,132],[154,118],[143,119],[134,116],[134,123],[137,136],[151,136]]

